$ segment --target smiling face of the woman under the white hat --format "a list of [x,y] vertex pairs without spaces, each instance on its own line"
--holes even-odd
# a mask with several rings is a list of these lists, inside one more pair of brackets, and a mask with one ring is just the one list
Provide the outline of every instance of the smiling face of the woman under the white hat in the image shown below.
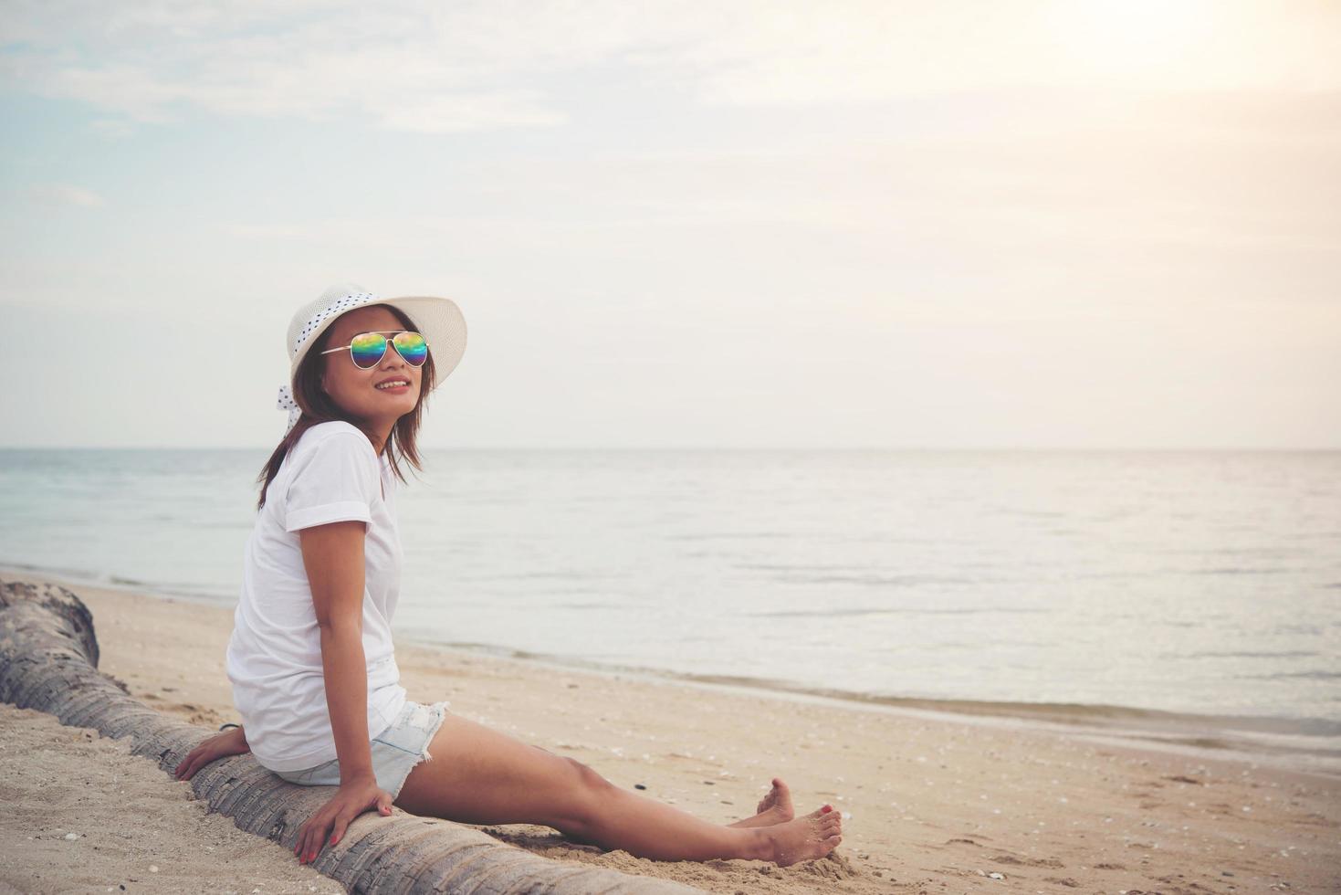
[[[373,330],[402,330],[405,326],[385,306],[369,305],[342,314],[327,330],[326,348],[342,346],[339,352],[323,356],[322,388],[350,416],[367,421],[381,431],[390,429],[396,420],[414,409],[418,401],[422,366],[413,366],[396,346],[388,345],[382,360],[370,370],[361,370],[350,357],[349,342],[358,333]],[[386,338],[394,338],[386,333]],[[408,388],[378,389],[377,384],[398,378]]]

